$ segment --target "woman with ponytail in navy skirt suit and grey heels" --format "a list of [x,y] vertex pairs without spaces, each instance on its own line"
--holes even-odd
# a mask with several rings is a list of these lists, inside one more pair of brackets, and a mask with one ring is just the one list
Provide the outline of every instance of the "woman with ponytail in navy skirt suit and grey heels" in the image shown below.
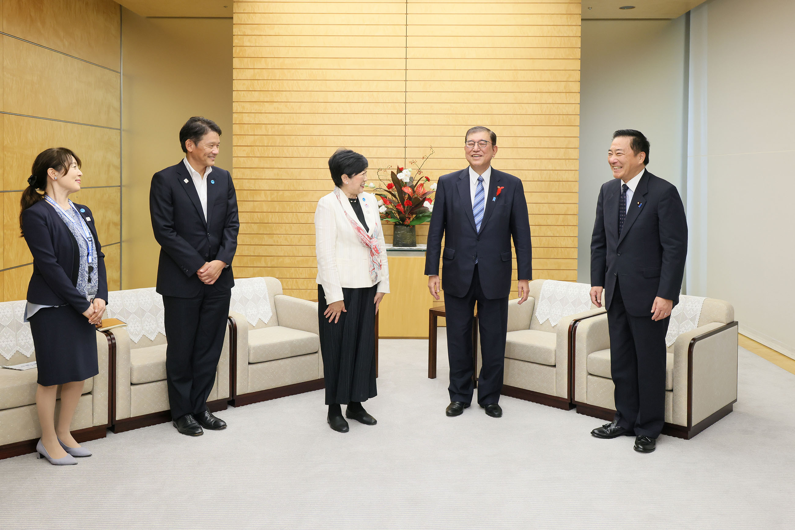
[[107,303],[105,256],[91,210],[68,199],[80,191],[80,158],[64,147],[46,149],[33,162],[32,173],[22,193],[19,223],[33,254],[25,319],[38,369],[41,439],[36,450],[38,458],[52,464],[76,464],[74,457],[91,456],[72,438],[69,425],[83,381],[99,373],[95,329]]

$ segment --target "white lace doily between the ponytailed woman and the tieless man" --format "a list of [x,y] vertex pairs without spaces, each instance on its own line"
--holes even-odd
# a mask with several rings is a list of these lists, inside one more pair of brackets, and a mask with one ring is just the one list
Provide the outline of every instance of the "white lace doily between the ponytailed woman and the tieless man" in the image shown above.
[[106,318],[126,322],[133,342],[143,336],[154,340],[158,333],[165,336],[163,312],[163,297],[153,287],[107,293]]

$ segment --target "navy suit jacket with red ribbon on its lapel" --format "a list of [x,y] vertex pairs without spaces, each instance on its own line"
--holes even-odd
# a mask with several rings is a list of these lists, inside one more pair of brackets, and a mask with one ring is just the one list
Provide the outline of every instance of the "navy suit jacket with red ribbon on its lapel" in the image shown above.
[[[502,192],[497,196],[497,188]],[[496,200],[493,200],[496,197]],[[428,231],[425,274],[439,274],[442,253],[442,288],[452,296],[467,294],[478,261],[480,285],[490,300],[510,294],[510,238],[514,238],[518,278],[533,277],[530,225],[522,180],[491,168],[486,211],[475,231],[475,215],[469,188],[469,168],[439,177],[433,215]]]

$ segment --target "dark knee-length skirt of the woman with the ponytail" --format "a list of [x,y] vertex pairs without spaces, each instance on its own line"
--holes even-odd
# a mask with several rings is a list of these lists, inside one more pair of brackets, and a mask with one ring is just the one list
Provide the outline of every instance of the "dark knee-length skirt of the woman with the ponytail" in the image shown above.
[[39,385],[85,381],[99,373],[96,328],[71,305],[39,309],[29,321]]

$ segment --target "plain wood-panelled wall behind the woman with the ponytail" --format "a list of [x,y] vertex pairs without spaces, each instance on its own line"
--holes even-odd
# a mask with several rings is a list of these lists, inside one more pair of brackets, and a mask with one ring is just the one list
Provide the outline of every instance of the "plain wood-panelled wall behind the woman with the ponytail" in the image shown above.
[[111,0],[0,0],[0,10],[0,296],[25,299],[33,258],[19,237],[19,199],[36,155],[59,146],[83,161],[83,190],[72,199],[94,212],[108,287],[118,289],[119,6]]

